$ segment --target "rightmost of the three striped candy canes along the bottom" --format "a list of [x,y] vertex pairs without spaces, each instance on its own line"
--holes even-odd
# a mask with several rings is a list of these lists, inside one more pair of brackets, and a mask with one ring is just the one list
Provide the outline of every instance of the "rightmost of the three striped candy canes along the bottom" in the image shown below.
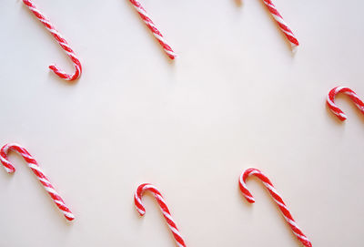
[[240,190],[243,192],[244,197],[249,201],[250,203],[254,203],[255,200],[253,196],[251,195],[250,191],[247,188],[246,180],[249,176],[254,175],[258,177],[259,180],[262,180],[263,184],[267,187],[270,195],[273,197],[274,201],[276,201],[280,211],[283,213],[283,217],[288,222],[290,228],[292,229],[292,232],[297,236],[298,240],[303,243],[306,247],[311,247],[312,244],[309,242],[308,238],[301,232],[301,230],[298,228],[298,225],[295,220],[293,220],[292,215],[287,209],[286,204],[283,202],[282,198],[279,196],[277,190],[273,187],[272,182],[260,171],[257,169],[250,168],[248,170],[245,170],[239,178],[239,186]]

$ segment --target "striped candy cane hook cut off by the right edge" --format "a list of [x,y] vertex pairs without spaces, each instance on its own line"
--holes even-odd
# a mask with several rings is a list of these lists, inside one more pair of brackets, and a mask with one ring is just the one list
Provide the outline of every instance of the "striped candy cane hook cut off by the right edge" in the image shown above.
[[348,95],[349,98],[354,101],[354,104],[359,108],[359,110],[364,114],[364,103],[359,99],[358,95],[353,90],[351,90],[349,87],[334,87],[329,91],[326,102],[328,103],[328,107],[331,109],[332,113],[334,113],[341,121],[344,121],[347,116],[334,103],[335,96],[339,93]]

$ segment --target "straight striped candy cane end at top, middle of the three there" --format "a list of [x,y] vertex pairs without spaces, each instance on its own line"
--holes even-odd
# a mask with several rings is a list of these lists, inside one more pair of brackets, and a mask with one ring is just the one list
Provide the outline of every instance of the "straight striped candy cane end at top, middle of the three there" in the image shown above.
[[167,44],[167,41],[162,36],[162,34],[159,32],[159,30],[157,29],[157,26],[154,25],[152,19],[147,14],[147,11],[136,0],[129,0],[129,1],[136,8],[137,13],[140,15],[140,17],[142,17],[143,21],[146,23],[146,25],[150,29],[150,31],[152,31],[153,35],[157,38],[157,41],[159,42],[160,46],[163,47],[163,49],[167,53],[167,56],[171,59],[175,59],[175,57],[177,57],[177,54]]

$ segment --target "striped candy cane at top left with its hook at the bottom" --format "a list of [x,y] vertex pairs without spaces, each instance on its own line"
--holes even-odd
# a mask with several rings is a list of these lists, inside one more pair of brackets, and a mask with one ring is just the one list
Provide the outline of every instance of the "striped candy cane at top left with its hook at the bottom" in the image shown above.
[[73,75],[66,74],[63,70],[61,70],[56,65],[49,66],[50,69],[53,70],[53,72],[56,73],[58,77],[61,77],[66,80],[76,80],[78,77],[81,76],[82,67],[81,63],[76,57],[75,52],[72,50],[72,48],[68,45],[66,42],[66,39],[62,37],[62,35],[56,30],[55,26],[53,26],[49,20],[43,15],[33,4],[31,0],[23,0],[23,3],[33,12],[33,14],[38,18],[38,20],[43,23],[46,29],[56,38],[56,41],[58,42],[59,46],[61,46],[68,57],[71,58],[72,62],[74,63],[74,66],[76,68],[76,72]]

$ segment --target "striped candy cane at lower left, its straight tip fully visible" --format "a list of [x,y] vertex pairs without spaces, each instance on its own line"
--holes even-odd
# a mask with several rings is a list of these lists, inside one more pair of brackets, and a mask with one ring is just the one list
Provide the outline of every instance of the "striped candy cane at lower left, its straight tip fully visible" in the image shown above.
[[66,219],[68,221],[74,220],[75,216],[68,209],[65,202],[62,200],[61,196],[58,194],[56,189],[52,186],[51,182],[45,177],[45,173],[40,169],[38,163],[36,163],[35,159],[30,155],[30,153],[25,148],[23,148],[22,146],[20,146],[18,144],[13,143],[13,144],[6,144],[0,150],[0,161],[2,162],[5,170],[8,173],[15,172],[15,167],[12,165],[12,163],[10,163],[9,160],[7,160],[7,152],[11,149],[17,151],[24,158],[24,160],[28,163],[28,167],[31,170],[33,170],[36,178],[42,183],[43,187],[48,192],[48,194],[51,196],[53,201],[55,201],[58,209],[63,212]]

